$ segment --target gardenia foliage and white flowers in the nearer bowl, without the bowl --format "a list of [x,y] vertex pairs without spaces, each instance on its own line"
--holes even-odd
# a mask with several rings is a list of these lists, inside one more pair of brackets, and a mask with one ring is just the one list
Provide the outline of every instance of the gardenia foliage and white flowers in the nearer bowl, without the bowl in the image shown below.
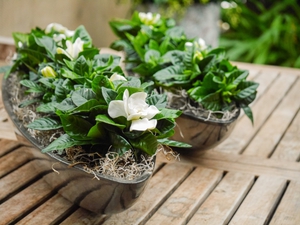
[[125,77],[120,57],[100,54],[83,26],[69,31],[50,24],[13,37],[17,55],[2,70],[25,88],[19,106],[37,113],[26,126],[38,131],[33,136],[45,145],[42,152],[131,152],[139,162],[161,145],[189,147],[168,139],[181,112],[165,108],[166,96],[155,92],[153,82]]

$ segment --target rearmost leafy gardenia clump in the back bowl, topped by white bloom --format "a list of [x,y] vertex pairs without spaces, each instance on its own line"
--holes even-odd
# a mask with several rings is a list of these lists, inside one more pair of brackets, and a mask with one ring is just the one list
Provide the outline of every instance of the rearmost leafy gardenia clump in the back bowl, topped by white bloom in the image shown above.
[[126,69],[140,74],[143,81],[169,60],[163,55],[172,50],[183,50],[188,41],[183,29],[176,26],[173,19],[160,14],[135,11],[131,19],[114,19],[110,26],[119,37],[111,48],[125,52]]

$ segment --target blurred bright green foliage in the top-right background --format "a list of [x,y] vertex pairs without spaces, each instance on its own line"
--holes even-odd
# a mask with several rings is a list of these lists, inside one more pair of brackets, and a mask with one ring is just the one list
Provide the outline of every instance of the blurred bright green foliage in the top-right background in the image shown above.
[[230,28],[220,46],[231,60],[300,68],[300,6],[297,0],[235,0],[222,9]]

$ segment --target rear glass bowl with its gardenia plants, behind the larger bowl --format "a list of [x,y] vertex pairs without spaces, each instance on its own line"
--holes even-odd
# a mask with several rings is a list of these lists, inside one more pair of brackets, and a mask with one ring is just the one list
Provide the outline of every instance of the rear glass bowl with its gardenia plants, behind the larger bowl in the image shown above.
[[125,52],[125,63],[141,80],[168,94],[169,108],[183,111],[173,139],[193,150],[213,148],[228,137],[240,109],[253,123],[249,105],[258,83],[248,81],[248,71],[232,65],[223,49],[206,46],[201,38],[187,39],[168,21],[143,12],[130,20],[114,19],[110,25],[119,40],[111,48]]

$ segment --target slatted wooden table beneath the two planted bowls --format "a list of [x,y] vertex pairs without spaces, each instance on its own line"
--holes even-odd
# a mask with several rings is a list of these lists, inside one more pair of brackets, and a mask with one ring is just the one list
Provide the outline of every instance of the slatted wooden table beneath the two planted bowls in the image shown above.
[[32,169],[0,103],[0,224],[300,224],[300,70],[237,63],[260,83],[255,123],[242,115],[215,149],[167,161],[130,209],[95,215]]

